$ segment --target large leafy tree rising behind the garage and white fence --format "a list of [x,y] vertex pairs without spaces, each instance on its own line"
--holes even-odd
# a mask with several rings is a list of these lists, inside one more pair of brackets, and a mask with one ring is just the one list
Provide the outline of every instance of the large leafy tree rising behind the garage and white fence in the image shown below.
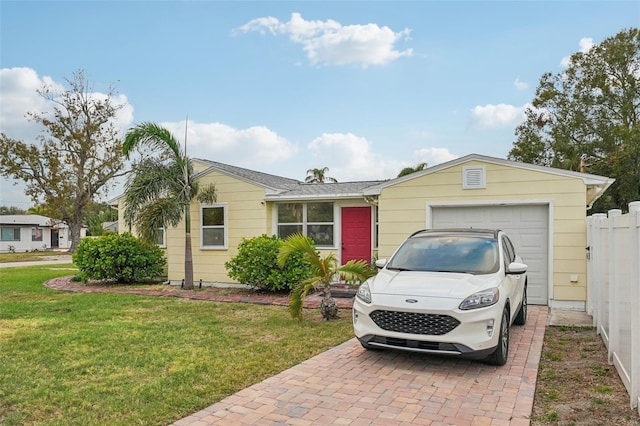
[[594,211],[640,199],[640,29],[623,30],[567,69],[545,73],[509,158],[613,177]]

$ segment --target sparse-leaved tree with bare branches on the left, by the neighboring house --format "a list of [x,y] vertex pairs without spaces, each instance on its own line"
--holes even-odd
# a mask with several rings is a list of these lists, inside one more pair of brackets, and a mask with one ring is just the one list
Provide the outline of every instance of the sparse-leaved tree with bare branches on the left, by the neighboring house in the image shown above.
[[0,175],[25,182],[25,194],[36,205],[44,201],[52,218],[69,225],[74,252],[87,206],[123,175],[114,124],[122,106],[113,104],[112,88],[106,97],[91,93],[83,71],[65,81],[69,87],[63,91],[47,85],[38,90],[54,107],[50,114],[27,114],[43,126],[34,143],[0,134]]

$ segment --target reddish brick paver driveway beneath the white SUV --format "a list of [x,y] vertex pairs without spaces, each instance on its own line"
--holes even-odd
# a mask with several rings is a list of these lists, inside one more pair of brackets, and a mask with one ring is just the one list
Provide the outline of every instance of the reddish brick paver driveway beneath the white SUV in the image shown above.
[[174,425],[528,425],[547,312],[511,328],[503,367],[351,339]]

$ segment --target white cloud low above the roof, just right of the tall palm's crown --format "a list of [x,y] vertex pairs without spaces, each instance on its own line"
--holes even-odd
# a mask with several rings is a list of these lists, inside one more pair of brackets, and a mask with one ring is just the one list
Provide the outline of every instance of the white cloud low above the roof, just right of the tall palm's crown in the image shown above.
[[[160,125],[183,142],[184,121]],[[190,157],[255,167],[286,160],[297,150],[297,145],[264,126],[235,129],[221,123],[188,122],[187,153]]]

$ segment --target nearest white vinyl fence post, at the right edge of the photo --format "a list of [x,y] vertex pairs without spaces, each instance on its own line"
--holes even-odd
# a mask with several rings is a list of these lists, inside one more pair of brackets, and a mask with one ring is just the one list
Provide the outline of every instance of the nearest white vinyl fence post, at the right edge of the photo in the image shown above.
[[629,396],[631,407],[638,408],[640,414],[640,201],[629,203],[629,249],[632,262],[631,276],[631,386]]

